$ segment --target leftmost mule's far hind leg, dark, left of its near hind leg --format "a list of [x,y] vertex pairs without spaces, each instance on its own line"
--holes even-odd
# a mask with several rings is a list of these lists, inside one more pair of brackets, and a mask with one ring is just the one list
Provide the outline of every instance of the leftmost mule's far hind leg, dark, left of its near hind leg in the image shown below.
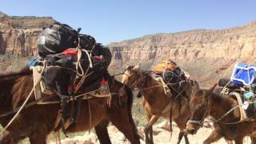
[[102,121],[98,124],[98,126],[95,126],[95,132],[97,134],[98,140],[101,144],[111,144],[109,134],[107,132],[106,127],[108,126],[109,122]]

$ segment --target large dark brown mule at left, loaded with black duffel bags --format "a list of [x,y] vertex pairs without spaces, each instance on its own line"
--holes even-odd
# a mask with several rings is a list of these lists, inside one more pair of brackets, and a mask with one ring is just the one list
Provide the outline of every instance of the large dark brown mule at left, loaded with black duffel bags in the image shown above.
[[[91,98],[82,101],[77,121],[66,131],[78,132],[89,130],[95,126],[96,134],[101,143],[111,143],[106,130],[108,122],[112,122],[126,136],[131,143],[140,143],[139,136],[131,116],[133,96],[131,90],[121,82],[109,78],[112,100],[110,107],[106,98]],[[0,74],[0,114],[5,114],[21,106],[33,87],[33,78],[30,71],[22,70],[17,73]],[[119,90],[123,89],[120,94]],[[30,102],[34,97],[30,98]],[[89,103],[91,121],[89,117]],[[70,105],[69,105],[70,106]],[[31,143],[46,143],[47,135],[54,130],[57,121],[59,104],[34,105],[22,110],[10,127],[4,132],[0,143],[18,143],[28,137]],[[70,110],[70,109],[69,109]],[[12,115],[0,118],[2,126],[10,121]]]

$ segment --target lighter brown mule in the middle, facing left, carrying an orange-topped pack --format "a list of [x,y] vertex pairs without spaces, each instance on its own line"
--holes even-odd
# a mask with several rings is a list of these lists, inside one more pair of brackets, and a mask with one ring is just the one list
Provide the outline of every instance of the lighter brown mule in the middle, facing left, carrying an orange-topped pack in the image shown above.
[[[182,89],[184,90],[181,91],[180,96],[171,89],[172,95],[167,96],[162,83],[152,78],[150,74],[142,72],[139,66],[127,67],[122,75],[122,82],[131,88],[138,88],[142,94],[142,106],[149,121],[145,128],[147,144],[154,143],[152,126],[160,117],[170,119],[170,126],[172,119],[177,123],[180,129],[178,143],[181,142],[183,136],[186,143],[189,143],[186,134],[183,132],[190,115],[187,97],[190,97],[192,88],[199,89],[197,83],[196,86],[192,86],[190,82],[184,82],[182,83]],[[184,95],[186,96],[183,97]]]

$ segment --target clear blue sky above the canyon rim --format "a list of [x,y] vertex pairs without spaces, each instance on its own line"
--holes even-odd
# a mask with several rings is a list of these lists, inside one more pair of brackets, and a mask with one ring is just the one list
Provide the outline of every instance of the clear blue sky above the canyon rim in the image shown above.
[[0,0],[9,15],[51,16],[107,44],[146,34],[222,29],[256,20],[255,0]]

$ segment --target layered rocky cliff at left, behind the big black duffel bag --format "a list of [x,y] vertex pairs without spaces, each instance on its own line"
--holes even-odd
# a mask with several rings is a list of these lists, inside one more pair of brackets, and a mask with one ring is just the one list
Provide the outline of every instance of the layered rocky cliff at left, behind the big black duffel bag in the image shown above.
[[54,22],[51,17],[10,17],[0,12],[0,54],[22,57],[37,54],[38,34]]

